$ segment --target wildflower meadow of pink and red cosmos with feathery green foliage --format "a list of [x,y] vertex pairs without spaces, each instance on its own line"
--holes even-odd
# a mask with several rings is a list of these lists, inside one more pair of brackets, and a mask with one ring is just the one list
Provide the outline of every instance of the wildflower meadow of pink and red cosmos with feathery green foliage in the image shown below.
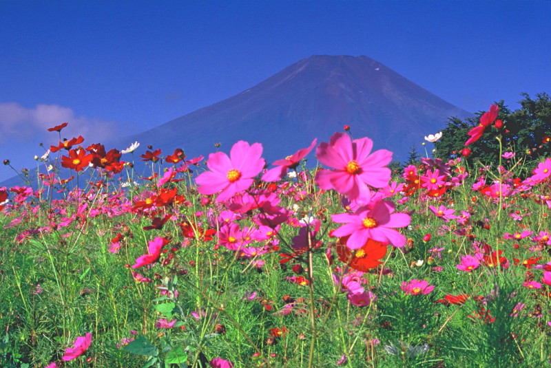
[[399,169],[349,126],[273,163],[48,129],[0,187],[0,366],[550,365],[551,142],[528,168],[498,114]]

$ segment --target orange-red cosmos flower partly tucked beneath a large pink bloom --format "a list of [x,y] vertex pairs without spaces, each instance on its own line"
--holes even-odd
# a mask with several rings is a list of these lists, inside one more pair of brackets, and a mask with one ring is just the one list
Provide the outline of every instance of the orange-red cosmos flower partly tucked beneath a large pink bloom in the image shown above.
[[362,248],[351,250],[346,247],[346,241],[350,236],[342,237],[337,243],[339,260],[357,271],[367,272],[371,268],[379,266],[386,255],[386,244],[368,239]]

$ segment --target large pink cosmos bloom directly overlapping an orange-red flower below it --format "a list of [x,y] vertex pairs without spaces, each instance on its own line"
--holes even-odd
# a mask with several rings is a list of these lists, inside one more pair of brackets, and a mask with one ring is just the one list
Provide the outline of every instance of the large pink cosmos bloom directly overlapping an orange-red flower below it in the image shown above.
[[362,206],[355,213],[340,213],[332,215],[337,224],[346,224],[333,231],[335,237],[350,235],[346,246],[350,249],[362,248],[368,239],[382,241],[395,247],[403,247],[406,237],[393,228],[408,226],[411,217],[405,213],[393,213],[393,202],[377,201],[368,206]]

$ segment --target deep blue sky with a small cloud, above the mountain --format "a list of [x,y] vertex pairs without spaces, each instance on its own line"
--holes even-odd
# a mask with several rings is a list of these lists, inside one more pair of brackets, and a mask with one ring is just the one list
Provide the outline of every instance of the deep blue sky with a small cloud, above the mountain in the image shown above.
[[32,169],[48,127],[143,131],[312,54],[369,56],[467,111],[517,107],[551,93],[550,19],[550,1],[0,0],[0,160]]

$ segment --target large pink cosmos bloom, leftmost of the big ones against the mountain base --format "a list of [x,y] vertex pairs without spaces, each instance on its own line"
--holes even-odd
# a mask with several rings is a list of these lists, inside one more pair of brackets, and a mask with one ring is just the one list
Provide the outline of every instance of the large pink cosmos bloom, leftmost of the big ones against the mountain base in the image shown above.
[[245,191],[253,184],[253,177],[264,167],[262,144],[249,143],[240,140],[233,144],[228,155],[222,152],[211,153],[207,171],[199,175],[195,182],[199,184],[197,191],[211,195],[220,192],[217,202],[224,202],[236,193]]

